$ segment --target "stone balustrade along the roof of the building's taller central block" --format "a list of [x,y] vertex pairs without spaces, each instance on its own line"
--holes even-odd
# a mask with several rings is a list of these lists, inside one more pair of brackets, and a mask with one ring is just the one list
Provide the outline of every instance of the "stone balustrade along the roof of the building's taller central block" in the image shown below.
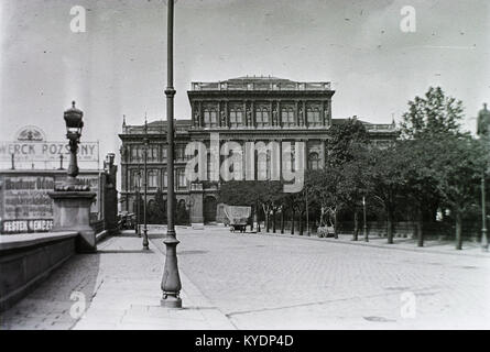
[[194,81],[192,90],[330,90],[329,81]]

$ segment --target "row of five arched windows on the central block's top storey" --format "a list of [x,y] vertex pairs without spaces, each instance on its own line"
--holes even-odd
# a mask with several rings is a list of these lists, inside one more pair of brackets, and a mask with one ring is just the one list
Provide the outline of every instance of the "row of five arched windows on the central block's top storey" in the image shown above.
[[[204,127],[218,127],[218,112],[215,109],[205,109],[203,112]],[[283,127],[296,125],[295,112],[293,108],[285,108],[281,110],[281,121]],[[318,108],[306,110],[306,122],[309,127],[322,127],[322,112]],[[255,109],[255,124],[258,128],[269,127],[273,124],[270,110],[266,108]],[[279,124],[279,121],[275,121]],[[230,110],[230,127],[239,128],[247,125],[246,116],[241,109]]]

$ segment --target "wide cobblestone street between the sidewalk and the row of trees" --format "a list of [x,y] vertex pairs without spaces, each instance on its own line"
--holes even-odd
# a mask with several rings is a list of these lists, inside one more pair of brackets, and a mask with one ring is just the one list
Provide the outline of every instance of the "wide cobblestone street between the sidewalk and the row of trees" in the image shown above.
[[[181,268],[240,329],[490,328],[488,255],[225,228],[178,237]],[[401,317],[403,293],[415,319]]]

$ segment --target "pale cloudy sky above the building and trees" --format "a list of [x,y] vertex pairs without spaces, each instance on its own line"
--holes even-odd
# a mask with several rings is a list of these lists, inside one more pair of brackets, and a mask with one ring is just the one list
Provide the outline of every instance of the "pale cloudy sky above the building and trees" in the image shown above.
[[[85,33],[70,30],[74,6]],[[334,118],[375,123],[400,121],[429,86],[462,100],[469,131],[490,102],[488,0],[178,0],[174,24],[177,119],[192,81],[246,75],[331,81]],[[76,100],[83,141],[119,161],[123,114],[165,119],[166,0],[0,0],[0,141],[31,124],[63,141]]]

